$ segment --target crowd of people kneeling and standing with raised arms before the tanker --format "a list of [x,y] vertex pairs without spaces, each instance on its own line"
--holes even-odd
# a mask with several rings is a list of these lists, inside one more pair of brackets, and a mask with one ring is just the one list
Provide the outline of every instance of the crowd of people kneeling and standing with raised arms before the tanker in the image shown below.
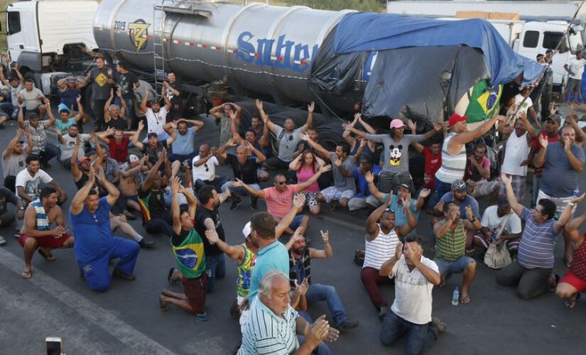
[[[219,124],[217,147],[198,141],[203,121],[185,119],[175,73],[153,97],[123,62],[112,67],[98,57],[96,64],[85,77],[58,82],[56,110],[18,65],[0,70],[11,93],[0,105],[1,121],[18,123],[2,155],[0,225],[16,226],[23,278],[34,275],[35,251],[52,261],[55,249],[72,247],[80,277],[104,292],[112,277],[134,280],[140,249],[155,247],[143,234],[162,234],[176,261],[168,283],[183,283],[183,293],[161,291],[162,310],[175,305],[208,320],[206,297],[224,278],[228,256],[238,275],[231,309],[242,332],[238,354],[330,354],[326,343],[359,322],[333,285],[311,275],[313,259],[335,255],[327,230],[320,233],[323,249],[310,246],[307,236],[313,216],[328,207],[368,216],[359,277],[382,322],[381,343],[406,337],[407,354],[428,349],[447,327],[432,317],[433,286],[461,273],[455,301],[469,304],[480,261],[500,268],[496,282],[515,287],[523,299],[550,290],[571,308],[586,291],[585,234],[578,231],[586,214],[574,216],[584,198],[577,179],[586,161],[586,133],[573,111],[562,120],[549,107],[536,110],[541,117],[533,109],[518,110],[527,88],[502,100],[503,115],[474,129],[459,114],[425,132],[403,119],[392,119],[390,131],[376,129],[355,114],[332,150],[320,143],[313,103],[300,126],[293,119],[283,126],[271,121],[258,99],[246,126],[242,107],[225,103],[209,111]],[[92,88],[89,102],[82,100],[85,87]],[[91,121],[89,132],[84,125]],[[491,130],[504,136],[501,161],[489,158],[483,140]],[[278,147],[274,154],[271,139]],[[409,164],[416,154],[424,161],[420,184]],[[48,173],[53,159],[58,169],[70,170],[77,187],[71,200],[66,182]],[[218,165],[228,165],[232,175],[217,175]],[[525,196],[528,168],[531,198]],[[229,200],[234,211],[246,196],[253,214],[242,226],[242,243],[229,245],[219,205]],[[489,204],[482,214],[479,198]],[[266,212],[259,211],[259,199]],[[61,207],[68,200],[72,234]],[[423,256],[416,231],[422,211],[433,215],[433,259]],[[128,222],[136,214],[140,232]],[[114,236],[116,230],[127,237]],[[278,239],[286,234],[283,244]],[[553,274],[559,234],[569,268],[562,278]],[[112,259],[118,261],[110,273]],[[379,289],[384,283],[394,285],[390,306]],[[332,324],[325,315],[310,317],[315,302],[326,303]]]

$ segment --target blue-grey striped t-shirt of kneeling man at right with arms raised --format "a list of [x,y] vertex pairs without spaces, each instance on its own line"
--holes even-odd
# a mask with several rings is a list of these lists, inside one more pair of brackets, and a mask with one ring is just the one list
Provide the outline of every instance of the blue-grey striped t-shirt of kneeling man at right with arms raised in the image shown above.
[[525,230],[521,235],[517,263],[523,268],[553,268],[553,249],[558,233],[553,230],[555,221],[537,224],[531,209],[523,207],[521,219],[525,222]]

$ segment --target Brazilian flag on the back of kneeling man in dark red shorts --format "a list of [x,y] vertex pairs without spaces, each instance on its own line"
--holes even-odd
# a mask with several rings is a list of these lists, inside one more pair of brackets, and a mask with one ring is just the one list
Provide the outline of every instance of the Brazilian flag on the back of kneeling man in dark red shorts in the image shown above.
[[205,271],[205,253],[203,241],[195,229],[190,229],[188,236],[178,246],[170,241],[177,267],[185,278],[199,278]]

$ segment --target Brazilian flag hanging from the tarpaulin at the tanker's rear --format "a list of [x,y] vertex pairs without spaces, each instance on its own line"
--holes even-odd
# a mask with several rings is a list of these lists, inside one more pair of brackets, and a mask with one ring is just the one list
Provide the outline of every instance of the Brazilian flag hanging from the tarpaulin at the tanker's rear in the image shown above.
[[468,123],[490,119],[494,112],[499,111],[499,102],[503,91],[502,85],[490,87],[488,80],[480,80],[472,88],[470,104],[466,109]]

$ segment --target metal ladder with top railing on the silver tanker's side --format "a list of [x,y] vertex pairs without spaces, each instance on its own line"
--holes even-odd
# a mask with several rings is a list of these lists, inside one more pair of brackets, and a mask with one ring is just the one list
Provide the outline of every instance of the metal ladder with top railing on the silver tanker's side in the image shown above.
[[[246,2],[246,1],[244,1]],[[155,72],[155,90],[158,93],[166,80],[165,45],[171,40],[172,33],[166,32],[167,13],[180,13],[185,15],[200,15],[210,17],[212,11],[202,9],[200,6],[210,4],[210,1],[195,0],[156,0],[153,3],[153,62]]]

